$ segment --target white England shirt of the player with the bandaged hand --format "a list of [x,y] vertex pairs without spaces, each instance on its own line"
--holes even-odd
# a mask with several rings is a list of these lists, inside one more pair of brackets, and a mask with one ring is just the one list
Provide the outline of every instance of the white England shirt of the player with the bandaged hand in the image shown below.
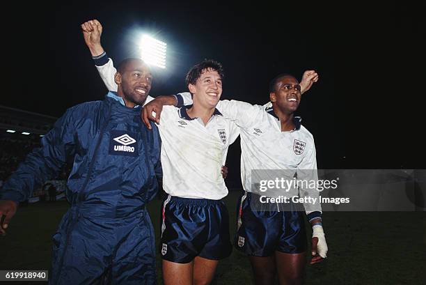
[[[180,93],[185,105],[192,103],[190,93]],[[244,190],[253,191],[251,173],[255,169],[285,169],[304,174],[301,180],[318,180],[317,159],[313,135],[295,117],[295,130],[282,132],[281,122],[271,107],[251,105],[237,100],[221,100],[216,108],[241,128],[241,178]],[[315,170],[315,171],[314,171]],[[317,198],[316,189],[306,188],[301,197]],[[303,203],[306,213],[321,211],[319,203]]]

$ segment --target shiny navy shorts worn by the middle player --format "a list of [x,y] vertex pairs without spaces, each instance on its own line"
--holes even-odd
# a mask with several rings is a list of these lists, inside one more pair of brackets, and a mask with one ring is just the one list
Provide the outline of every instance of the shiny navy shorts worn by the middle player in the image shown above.
[[232,252],[229,215],[222,200],[171,197],[163,203],[163,259],[189,263],[196,256],[224,259]]

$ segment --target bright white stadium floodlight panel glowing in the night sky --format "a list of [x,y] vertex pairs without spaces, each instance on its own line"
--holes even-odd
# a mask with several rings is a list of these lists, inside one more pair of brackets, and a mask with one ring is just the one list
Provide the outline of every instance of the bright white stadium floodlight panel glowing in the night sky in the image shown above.
[[148,35],[143,35],[139,45],[141,59],[152,66],[166,68],[167,44]]

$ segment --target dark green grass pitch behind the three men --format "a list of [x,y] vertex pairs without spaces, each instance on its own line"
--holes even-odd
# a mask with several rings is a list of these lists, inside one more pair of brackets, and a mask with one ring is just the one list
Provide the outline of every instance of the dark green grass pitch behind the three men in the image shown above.
[[[237,192],[231,192],[226,198],[232,236],[237,196]],[[157,249],[159,207],[157,199],[148,207],[157,234]],[[7,236],[0,237],[0,270],[49,269],[52,235],[67,209],[65,201],[19,208]],[[324,213],[323,219],[329,259],[317,265],[306,261],[307,285],[426,284],[426,212]],[[161,284],[159,253],[157,265]],[[213,284],[252,284],[246,256],[234,250],[221,261]]]

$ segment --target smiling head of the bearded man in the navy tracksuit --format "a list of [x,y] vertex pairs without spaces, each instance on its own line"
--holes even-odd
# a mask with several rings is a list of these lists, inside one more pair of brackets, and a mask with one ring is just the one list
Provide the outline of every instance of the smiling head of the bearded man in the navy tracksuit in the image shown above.
[[120,64],[115,76],[117,93],[125,100],[127,107],[143,105],[150,93],[152,74],[150,68],[140,59],[129,59]]

